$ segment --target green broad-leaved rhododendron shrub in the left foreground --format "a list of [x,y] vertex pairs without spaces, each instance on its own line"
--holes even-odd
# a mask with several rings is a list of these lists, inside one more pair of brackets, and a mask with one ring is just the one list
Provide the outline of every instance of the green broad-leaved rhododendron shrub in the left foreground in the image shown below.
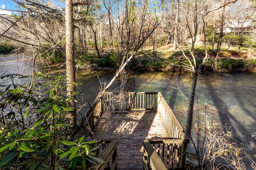
[[[86,169],[86,162],[104,162],[96,157],[96,141],[76,139],[68,106],[65,80],[61,76],[36,74],[41,83],[13,84],[0,90],[0,169]],[[34,87],[34,88],[31,88]],[[77,94],[76,92],[74,94]],[[72,138],[70,138],[72,137]]]

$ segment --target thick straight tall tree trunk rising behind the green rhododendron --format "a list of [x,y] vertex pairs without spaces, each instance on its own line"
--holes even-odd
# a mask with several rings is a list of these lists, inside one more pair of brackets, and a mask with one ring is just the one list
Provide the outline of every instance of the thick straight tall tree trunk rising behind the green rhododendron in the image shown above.
[[74,82],[76,81],[75,57],[74,57],[74,27],[73,27],[73,11],[72,0],[66,0],[66,74],[67,74],[67,96],[71,97],[70,105],[74,109],[73,123],[76,126],[76,102],[74,92],[76,88]]

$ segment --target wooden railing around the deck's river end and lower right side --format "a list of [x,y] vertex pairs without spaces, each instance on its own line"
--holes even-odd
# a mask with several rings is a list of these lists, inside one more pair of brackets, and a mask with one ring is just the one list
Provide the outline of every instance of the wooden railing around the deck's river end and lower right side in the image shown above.
[[[161,114],[164,125],[170,135],[170,139],[143,141],[144,168],[154,169],[153,167],[156,166],[154,165],[154,159],[162,160],[162,164],[165,163],[165,167],[167,168],[184,168],[188,139],[185,139],[186,134],[184,133],[182,126],[160,92],[130,92],[126,94],[112,92],[105,93],[92,112],[86,116],[85,128],[82,135],[84,135],[85,138],[92,137],[93,129],[98,118],[104,111],[129,112],[146,110],[157,110]],[[150,143],[151,147],[148,143]],[[152,149],[156,150],[157,154],[151,154],[149,150]],[[166,154],[164,152],[166,152]],[[172,152],[171,161],[169,160],[170,152]],[[159,156],[162,156],[162,158]]]

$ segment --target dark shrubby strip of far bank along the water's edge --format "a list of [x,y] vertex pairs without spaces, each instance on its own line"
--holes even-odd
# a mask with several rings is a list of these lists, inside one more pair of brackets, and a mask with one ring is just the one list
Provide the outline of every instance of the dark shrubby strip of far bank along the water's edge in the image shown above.
[[[189,64],[187,61],[182,63]],[[200,64],[201,59],[196,60],[197,64]],[[62,64],[62,67],[65,65]],[[85,70],[116,70],[112,67],[101,67],[97,64],[76,64],[77,69]],[[185,71],[190,72],[188,67],[181,66],[179,61],[148,61],[144,59],[134,59],[134,61],[128,63],[127,70],[138,72],[138,71]],[[201,69],[202,72],[242,72],[242,71],[254,71],[256,72],[256,59],[233,59],[227,57],[218,58],[217,62],[214,62],[213,58],[210,58]]]

